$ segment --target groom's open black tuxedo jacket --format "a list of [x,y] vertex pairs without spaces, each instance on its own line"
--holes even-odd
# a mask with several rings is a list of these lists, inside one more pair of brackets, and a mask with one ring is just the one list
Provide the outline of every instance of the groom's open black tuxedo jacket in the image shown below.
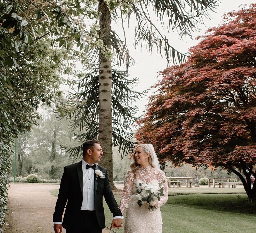
[[[96,165],[96,170],[97,169],[102,171],[106,176],[106,178],[98,177],[96,180],[96,174],[94,173],[94,205],[99,226],[103,229],[105,228],[105,215],[102,196],[104,196],[110,211],[113,213],[113,217],[122,216],[122,213],[112,193],[106,168]],[[82,201],[83,171],[82,161],[80,161],[64,167],[55,212],[53,214],[53,221],[61,222],[61,217],[67,202],[62,226],[66,229],[71,228],[81,210]]]

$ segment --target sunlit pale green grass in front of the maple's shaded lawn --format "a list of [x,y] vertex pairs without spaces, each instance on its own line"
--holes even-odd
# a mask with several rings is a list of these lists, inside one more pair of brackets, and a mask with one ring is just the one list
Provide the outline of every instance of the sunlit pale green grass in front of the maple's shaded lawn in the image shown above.
[[161,207],[163,233],[254,233],[253,214],[221,212],[172,204]]

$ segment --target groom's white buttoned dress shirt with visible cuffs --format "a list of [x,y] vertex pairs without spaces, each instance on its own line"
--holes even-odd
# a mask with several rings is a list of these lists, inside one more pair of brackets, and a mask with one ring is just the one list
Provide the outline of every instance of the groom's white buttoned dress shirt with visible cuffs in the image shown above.
[[[94,169],[89,167],[86,169],[87,162],[82,159],[83,170],[83,202],[81,210],[95,210],[94,207]],[[88,164],[90,165],[90,164]],[[94,165],[94,164],[91,164]],[[113,219],[123,218],[123,216],[115,216]],[[62,224],[62,222],[54,222],[53,224]]]

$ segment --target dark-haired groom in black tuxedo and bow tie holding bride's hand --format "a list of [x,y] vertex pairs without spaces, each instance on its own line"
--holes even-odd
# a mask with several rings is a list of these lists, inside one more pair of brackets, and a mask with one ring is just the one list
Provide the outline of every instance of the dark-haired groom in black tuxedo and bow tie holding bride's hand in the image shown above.
[[101,233],[105,228],[103,196],[113,213],[111,228],[122,226],[123,216],[110,188],[107,170],[95,164],[102,155],[99,141],[88,140],[83,143],[82,161],[64,167],[53,214],[55,233],[62,233],[62,226],[66,233]]

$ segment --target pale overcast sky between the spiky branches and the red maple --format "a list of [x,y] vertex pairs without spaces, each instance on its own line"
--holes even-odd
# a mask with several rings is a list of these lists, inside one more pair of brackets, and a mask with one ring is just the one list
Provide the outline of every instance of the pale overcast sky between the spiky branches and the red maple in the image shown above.
[[[222,0],[219,7],[215,9],[215,12],[209,12],[211,19],[205,18],[205,25],[199,25],[200,31],[193,33],[193,38],[186,37],[184,39],[180,39],[177,32],[169,33],[169,41],[170,44],[177,49],[179,52],[186,53],[189,48],[196,45],[198,43],[195,40],[196,37],[204,35],[207,29],[218,26],[221,24],[222,16],[226,12],[237,11],[240,9],[239,6],[242,4],[251,4],[256,1],[251,0]],[[128,36],[127,36],[128,37]],[[133,38],[128,38],[128,42],[130,45],[133,43]],[[149,89],[155,83],[157,83],[157,72],[159,70],[163,70],[167,67],[167,62],[164,58],[156,53],[152,53],[151,55],[144,48],[142,50],[134,50],[132,47],[129,48],[129,52],[131,56],[136,60],[136,64],[130,68],[130,77],[138,77],[139,83],[135,88],[137,91],[143,91],[145,89]],[[148,95],[141,101],[137,101],[135,104],[140,108],[139,114],[143,114],[145,110],[145,105],[148,103],[148,98],[153,94],[153,90],[150,90]]]

